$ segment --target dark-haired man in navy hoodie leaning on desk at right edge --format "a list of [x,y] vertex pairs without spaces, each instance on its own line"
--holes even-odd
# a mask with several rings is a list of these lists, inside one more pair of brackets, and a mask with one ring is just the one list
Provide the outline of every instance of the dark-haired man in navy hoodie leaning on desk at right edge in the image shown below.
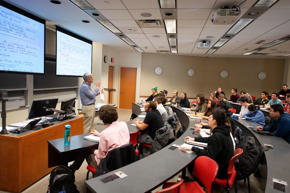
[[290,115],[284,113],[280,104],[272,104],[270,107],[270,116],[274,118],[272,124],[268,127],[257,127],[257,129],[274,132],[275,136],[282,137],[290,144]]

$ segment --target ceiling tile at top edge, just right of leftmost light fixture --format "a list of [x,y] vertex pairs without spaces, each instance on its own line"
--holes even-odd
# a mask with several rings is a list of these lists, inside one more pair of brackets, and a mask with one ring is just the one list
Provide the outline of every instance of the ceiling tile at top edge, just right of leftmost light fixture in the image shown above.
[[87,0],[95,9],[126,9],[121,0],[110,0],[110,3],[105,3],[102,0]]

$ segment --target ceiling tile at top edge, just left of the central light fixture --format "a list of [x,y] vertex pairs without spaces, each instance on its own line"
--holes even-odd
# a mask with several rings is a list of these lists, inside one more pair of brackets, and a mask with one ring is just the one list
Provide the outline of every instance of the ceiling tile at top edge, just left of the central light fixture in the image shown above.
[[122,0],[127,9],[159,9],[159,3],[156,0]]

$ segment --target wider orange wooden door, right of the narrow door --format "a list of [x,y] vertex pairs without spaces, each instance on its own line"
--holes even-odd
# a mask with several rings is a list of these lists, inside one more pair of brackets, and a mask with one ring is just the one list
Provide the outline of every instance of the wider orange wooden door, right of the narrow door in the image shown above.
[[132,109],[135,102],[137,68],[121,68],[119,109]]

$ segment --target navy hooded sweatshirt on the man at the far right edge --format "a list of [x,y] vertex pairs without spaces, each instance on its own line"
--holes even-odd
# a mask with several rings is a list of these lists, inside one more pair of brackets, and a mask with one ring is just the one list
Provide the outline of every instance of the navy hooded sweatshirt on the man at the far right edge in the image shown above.
[[284,113],[279,116],[278,121],[273,120],[272,124],[268,127],[263,127],[263,130],[274,132],[277,137],[282,137],[285,141],[290,144],[290,115]]

